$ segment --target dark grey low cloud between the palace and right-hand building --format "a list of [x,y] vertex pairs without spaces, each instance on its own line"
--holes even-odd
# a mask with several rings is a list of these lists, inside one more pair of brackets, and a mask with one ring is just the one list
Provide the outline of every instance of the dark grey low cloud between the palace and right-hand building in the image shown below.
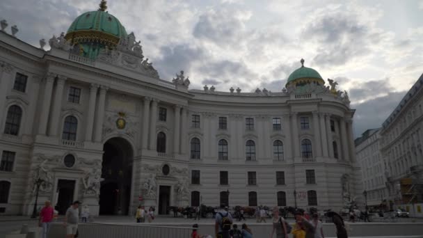
[[351,104],[351,108],[356,109],[353,122],[354,136],[360,136],[366,129],[381,127],[406,93],[406,91],[388,93],[384,97],[376,97],[361,104]]

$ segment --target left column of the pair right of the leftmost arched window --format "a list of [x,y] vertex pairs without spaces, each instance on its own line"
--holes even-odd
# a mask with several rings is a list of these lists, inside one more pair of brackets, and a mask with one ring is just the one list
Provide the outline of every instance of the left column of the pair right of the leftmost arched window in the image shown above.
[[47,123],[49,122],[51,93],[53,91],[54,78],[56,78],[56,74],[49,73],[45,79],[44,96],[42,98],[40,123],[38,127],[38,134],[42,135],[47,133]]

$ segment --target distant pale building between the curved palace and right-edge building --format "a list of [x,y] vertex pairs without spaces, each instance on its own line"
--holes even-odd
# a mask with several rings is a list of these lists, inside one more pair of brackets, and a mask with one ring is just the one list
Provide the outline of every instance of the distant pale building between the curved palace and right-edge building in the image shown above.
[[[367,193],[367,205],[379,207],[386,203],[385,161],[379,148],[380,128],[367,129],[361,137],[356,138],[356,157],[361,167],[362,187]],[[364,191],[363,191],[364,193]]]

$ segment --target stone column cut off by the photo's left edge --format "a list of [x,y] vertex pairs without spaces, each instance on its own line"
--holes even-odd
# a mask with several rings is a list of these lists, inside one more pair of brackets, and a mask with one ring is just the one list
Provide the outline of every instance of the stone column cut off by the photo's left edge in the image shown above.
[[[6,96],[11,90],[10,83],[13,81],[13,66],[8,63],[0,62],[0,122],[6,118],[7,110],[4,106],[6,103]],[[1,125],[4,125],[2,122]],[[3,133],[3,132],[2,132]]]

